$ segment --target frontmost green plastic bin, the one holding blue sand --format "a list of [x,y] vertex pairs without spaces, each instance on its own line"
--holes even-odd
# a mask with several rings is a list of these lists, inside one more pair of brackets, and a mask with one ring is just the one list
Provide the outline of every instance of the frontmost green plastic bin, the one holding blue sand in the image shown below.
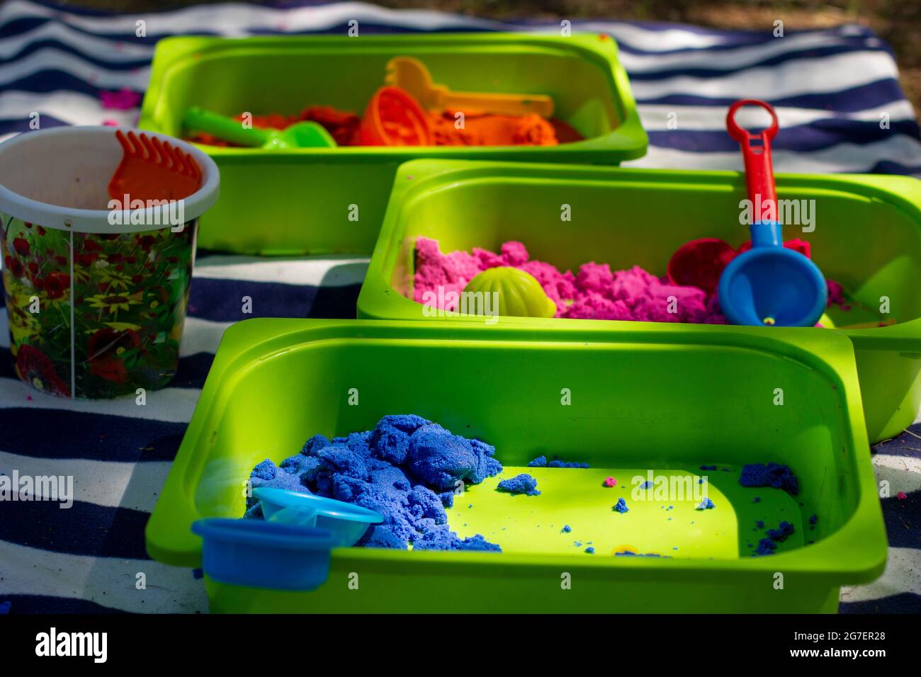
[[[786,393],[779,406],[778,388]],[[598,322],[541,330],[235,324],[147,524],[147,552],[199,566],[192,522],[239,517],[253,465],[296,454],[315,433],[366,430],[396,413],[422,414],[495,444],[505,476],[538,454],[591,469],[530,469],[541,496],[496,492],[497,478],[457,496],[451,528],[483,533],[502,553],[340,548],[329,579],[311,592],[237,587],[205,575],[212,612],[834,612],[841,585],[869,582],[885,563],[845,337],[781,340],[779,333]],[[740,486],[743,463],[766,461],[798,474],[798,496]],[[631,476],[702,473],[705,464],[719,468],[705,473],[713,509],[686,500],[666,509],[635,500],[626,487]],[[609,473],[619,486],[601,486]],[[630,512],[610,510],[619,496]],[[593,517],[588,504],[598,508]],[[777,554],[752,556],[764,537],[757,519],[767,527],[787,519],[796,531]],[[562,532],[564,523],[571,533]],[[596,554],[573,539],[593,541]],[[621,542],[668,556],[612,554]]]

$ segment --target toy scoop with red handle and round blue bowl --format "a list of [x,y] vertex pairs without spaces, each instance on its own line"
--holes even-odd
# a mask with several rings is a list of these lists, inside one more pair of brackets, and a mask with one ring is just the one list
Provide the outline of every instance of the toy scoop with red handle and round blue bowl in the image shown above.
[[[761,134],[752,134],[735,121],[736,111],[748,105],[771,113],[773,123]],[[719,306],[732,324],[814,326],[825,310],[828,287],[815,263],[784,247],[771,167],[771,139],[778,128],[774,109],[757,99],[736,101],[729,107],[726,126],[742,149],[754,212],[752,249],[730,261],[720,275]]]

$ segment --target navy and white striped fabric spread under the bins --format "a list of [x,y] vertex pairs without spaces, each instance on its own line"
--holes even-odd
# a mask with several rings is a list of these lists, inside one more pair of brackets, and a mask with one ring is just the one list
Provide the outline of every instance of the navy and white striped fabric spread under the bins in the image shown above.
[[[134,37],[146,20],[147,37]],[[362,3],[299,8],[241,4],[108,17],[24,0],[0,6],[0,138],[43,127],[133,124],[137,109],[103,108],[100,93],[143,93],[157,39],[180,33],[245,36],[431,30],[556,31],[555,24],[506,24]],[[780,171],[921,174],[911,105],[885,44],[869,29],[806,32],[719,31],[614,21],[574,22],[610,33],[650,146],[635,167],[740,169],[724,132],[729,102],[768,99],[777,107]],[[673,114],[670,116],[670,114]],[[889,120],[880,127],[880,116]],[[677,129],[670,119],[677,116]],[[265,317],[354,317],[367,259],[260,259],[200,251],[181,366],[172,385],[134,400],[86,403],[43,396],[20,383],[0,317],[0,472],[72,475],[70,509],[48,501],[0,503],[0,612],[204,612],[204,586],[189,569],[157,564],[144,525],[169,472],[221,334],[253,298]],[[334,273],[332,273],[334,271]],[[889,566],[876,583],[842,590],[841,611],[921,611],[921,425],[875,450],[890,538]],[[895,497],[904,491],[907,499]],[[136,589],[137,575],[146,589]]]

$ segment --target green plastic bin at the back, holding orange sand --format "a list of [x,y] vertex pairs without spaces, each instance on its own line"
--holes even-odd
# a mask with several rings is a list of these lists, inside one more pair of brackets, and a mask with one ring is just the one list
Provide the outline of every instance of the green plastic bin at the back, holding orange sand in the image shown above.
[[384,84],[385,65],[398,55],[422,60],[435,82],[452,89],[549,94],[555,116],[586,140],[543,147],[284,152],[200,146],[220,168],[223,190],[201,220],[199,246],[258,254],[368,254],[393,175],[412,158],[615,165],[646,153],[647,136],[617,46],[600,34],[167,38],[157,42],[139,126],[180,136],[181,116],[194,105],[227,115],[292,114],[308,105],[361,114]]

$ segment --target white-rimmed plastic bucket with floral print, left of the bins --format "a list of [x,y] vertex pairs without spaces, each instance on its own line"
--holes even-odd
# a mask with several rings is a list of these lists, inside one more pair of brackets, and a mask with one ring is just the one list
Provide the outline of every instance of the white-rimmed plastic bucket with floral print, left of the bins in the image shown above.
[[211,158],[144,132],[191,155],[202,185],[169,205],[110,208],[116,129],[58,127],[0,144],[10,350],[20,379],[64,397],[136,394],[175,375],[198,216],[219,190]]

